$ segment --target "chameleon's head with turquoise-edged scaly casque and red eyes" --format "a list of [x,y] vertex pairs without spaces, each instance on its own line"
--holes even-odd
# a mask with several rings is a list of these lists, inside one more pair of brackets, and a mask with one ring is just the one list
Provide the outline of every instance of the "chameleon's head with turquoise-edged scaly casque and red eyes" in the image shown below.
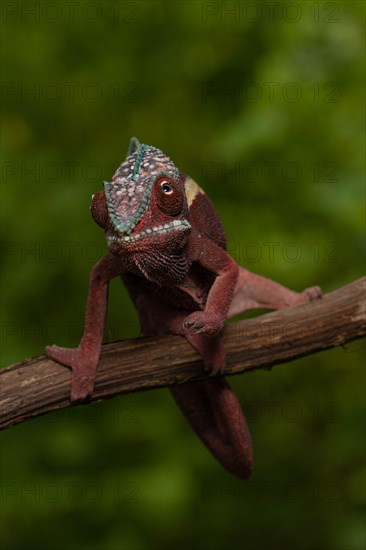
[[91,205],[111,252],[183,247],[191,228],[185,180],[160,149],[132,138],[126,160]]

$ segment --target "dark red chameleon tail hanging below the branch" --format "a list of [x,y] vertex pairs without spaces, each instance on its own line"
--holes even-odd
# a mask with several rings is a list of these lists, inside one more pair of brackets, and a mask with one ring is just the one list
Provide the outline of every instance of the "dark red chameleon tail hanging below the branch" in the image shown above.
[[170,391],[197,435],[224,468],[241,479],[248,478],[253,461],[250,433],[225,378],[190,382]]

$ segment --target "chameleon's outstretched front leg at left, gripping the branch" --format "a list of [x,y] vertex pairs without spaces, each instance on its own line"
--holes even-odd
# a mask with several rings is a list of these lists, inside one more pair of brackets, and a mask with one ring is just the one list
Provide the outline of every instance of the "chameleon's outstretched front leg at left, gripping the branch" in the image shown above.
[[72,369],[71,401],[85,399],[94,389],[103,340],[109,281],[119,274],[120,266],[117,260],[109,254],[104,256],[90,274],[85,328],[79,346],[47,346],[45,349],[51,359]]

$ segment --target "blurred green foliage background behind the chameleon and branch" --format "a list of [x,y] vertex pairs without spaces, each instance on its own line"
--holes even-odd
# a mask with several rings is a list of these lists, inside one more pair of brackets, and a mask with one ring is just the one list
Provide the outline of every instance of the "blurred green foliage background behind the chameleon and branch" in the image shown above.
[[[205,187],[247,268],[325,292],[363,274],[363,2],[1,9],[3,366],[77,345],[105,251],[90,196],[132,135]],[[115,280],[105,340],[138,334]],[[167,390],[3,432],[3,548],[363,548],[364,347],[231,378],[247,482]]]

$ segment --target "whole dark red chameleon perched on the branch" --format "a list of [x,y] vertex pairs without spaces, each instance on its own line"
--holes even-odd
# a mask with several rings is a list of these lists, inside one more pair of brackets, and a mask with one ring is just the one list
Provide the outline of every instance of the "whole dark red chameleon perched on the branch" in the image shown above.
[[[72,401],[86,399],[94,388],[113,277],[121,276],[126,285],[145,335],[184,336],[212,375],[225,369],[225,319],[321,296],[319,287],[297,293],[239,267],[225,251],[223,227],[204,191],[160,149],[136,138],[112,181],[93,195],[91,214],[105,230],[108,252],[91,272],[84,335],[75,349],[46,348],[49,357],[72,369]],[[247,478],[251,438],[225,378],[178,385],[171,392],[221,464]]]

